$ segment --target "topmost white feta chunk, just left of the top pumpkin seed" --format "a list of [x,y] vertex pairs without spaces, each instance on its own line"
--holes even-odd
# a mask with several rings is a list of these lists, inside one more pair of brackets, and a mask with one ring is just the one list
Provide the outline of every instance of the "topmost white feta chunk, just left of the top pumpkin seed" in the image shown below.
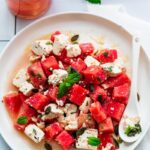
[[53,53],[60,55],[61,51],[69,44],[68,36],[64,34],[55,35],[55,41],[53,43]]

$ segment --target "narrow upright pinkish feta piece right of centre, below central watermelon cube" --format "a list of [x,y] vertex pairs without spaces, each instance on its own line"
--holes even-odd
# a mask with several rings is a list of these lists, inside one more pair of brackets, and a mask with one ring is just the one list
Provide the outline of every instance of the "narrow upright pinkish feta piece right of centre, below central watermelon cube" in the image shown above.
[[88,113],[90,105],[91,105],[91,99],[90,97],[86,97],[82,105],[80,105],[79,110],[81,110],[84,113]]

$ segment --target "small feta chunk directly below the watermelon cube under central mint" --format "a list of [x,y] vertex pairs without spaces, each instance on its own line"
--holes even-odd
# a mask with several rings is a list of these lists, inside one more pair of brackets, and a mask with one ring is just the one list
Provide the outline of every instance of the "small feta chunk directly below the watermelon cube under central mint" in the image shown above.
[[67,103],[64,108],[64,112],[69,116],[70,114],[74,114],[77,112],[77,105]]

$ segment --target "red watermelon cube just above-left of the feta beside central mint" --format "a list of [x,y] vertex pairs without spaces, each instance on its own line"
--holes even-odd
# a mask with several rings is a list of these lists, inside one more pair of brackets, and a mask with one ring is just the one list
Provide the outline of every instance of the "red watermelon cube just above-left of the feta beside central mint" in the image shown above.
[[47,76],[52,74],[53,69],[59,68],[58,62],[54,56],[49,56],[48,58],[41,61],[41,65]]

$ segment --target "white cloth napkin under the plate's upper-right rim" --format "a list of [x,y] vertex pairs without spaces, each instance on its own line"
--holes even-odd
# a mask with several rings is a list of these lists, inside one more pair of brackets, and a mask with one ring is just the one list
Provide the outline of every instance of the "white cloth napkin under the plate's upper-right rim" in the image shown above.
[[[134,18],[127,14],[122,5],[94,5],[87,4],[88,11],[110,19],[126,28],[133,35],[139,35],[142,47],[150,58],[150,23]],[[136,150],[150,149],[150,129]]]

